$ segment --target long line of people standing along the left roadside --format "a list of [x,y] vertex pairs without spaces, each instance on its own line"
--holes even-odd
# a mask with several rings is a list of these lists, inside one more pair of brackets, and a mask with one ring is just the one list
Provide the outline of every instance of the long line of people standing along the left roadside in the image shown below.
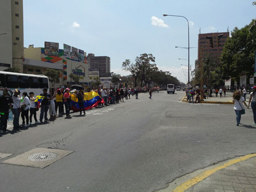
[[[94,91],[102,98],[103,102],[98,104],[98,108],[107,106],[109,104],[116,104],[119,102],[124,102],[124,99],[131,99],[131,96],[135,96],[138,99],[139,93],[150,94],[150,99],[152,98],[153,91],[159,91],[158,89],[148,89],[148,88],[102,88],[98,87],[97,89],[89,88],[87,92]],[[39,103],[39,107],[36,106],[36,100],[38,97],[35,97],[33,92],[27,93],[23,92],[22,96],[20,95],[21,91],[15,89],[12,97],[8,96],[8,90],[3,90],[3,95],[0,95],[0,133],[7,131],[7,121],[10,118],[9,114],[13,114],[13,130],[19,130],[22,127],[28,127],[29,125],[48,122],[49,120],[55,120],[58,116],[66,115],[66,118],[70,118],[71,111],[71,93],[69,88],[51,88],[49,93],[48,89],[42,89],[40,97],[42,98]],[[84,109],[84,90],[75,90],[73,94],[77,97],[77,102],[79,105],[80,115],[86,115]],[[65,112],[64,112],[65,106]],[[37,119],[37,112],[40,113],[39,121]],[[48,113],[50,119],[48,119]],[[19,124],[19,117],[22,117],[22,124]],[[32,121],[34,118],[34,123]],[[44,121],[43,121],[44,120]]]

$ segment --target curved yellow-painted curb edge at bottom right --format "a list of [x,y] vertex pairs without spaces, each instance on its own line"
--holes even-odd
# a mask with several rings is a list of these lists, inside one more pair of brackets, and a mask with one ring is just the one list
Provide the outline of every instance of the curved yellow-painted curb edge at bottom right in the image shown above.
[[202,174],[200,174],[200,175],[198,175],[198,176],[196,176],[196,177],[186,181],[185,183],[182,183],[180,186],[176,187],[176,189],[174,189],[174,192],[183,192],[186,189],[188,189],[188,188],[196,185],[200,181],[204,180],[205,178],[209,177],[210,175],[216,173],[218,170],[226,168],[226,167],[228,167],[228,166],[230,166],[230,165],[232,165],[234,163],[238,163],[240,161],[244,161],[244,160],[247,160],[247,159],[249,159],[251,157],[255,157],[255,156],[256,156],[256,154],[246,155],[246,156],[240,157],[238,159],[230,160],[230,161],[228,161],[228,162],[226,162],[223,165],[220,165],[218,167],[206,170]]

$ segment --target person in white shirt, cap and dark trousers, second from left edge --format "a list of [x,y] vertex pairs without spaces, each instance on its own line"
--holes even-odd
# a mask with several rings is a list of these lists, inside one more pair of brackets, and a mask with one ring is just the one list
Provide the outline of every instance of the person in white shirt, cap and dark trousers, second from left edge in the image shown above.
[[22,126],[19,126],[18,120],[19,120],[19,115],[20,115],[20,90],[15,89],[14,93],[12,94],[12,101],[13,101],[13,108],[12,108],[12,113],[14,115],[13,119],[13,130],[18,130]]

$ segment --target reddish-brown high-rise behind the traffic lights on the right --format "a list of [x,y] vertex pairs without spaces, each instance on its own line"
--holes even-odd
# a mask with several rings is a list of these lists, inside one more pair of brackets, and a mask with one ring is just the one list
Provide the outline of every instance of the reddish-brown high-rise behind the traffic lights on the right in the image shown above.
[[[223,34],[223,36],[220,38],[220,43],[218,44],[218,35]],[[209,39],[207,39],[207,36],[213,37],[213,43],[214,48],[210,47]],[[223,33],[204,33],[198,35],[198,60],[200,61],[200,58],[204,58],[206,54],[209,54],[211,57],[217,58],[217,62],[219,62],[219,58],[221,57],[221,53],[223,51],[223,46],[225,44],[225,41],[229,37],[229,32],[223,32]],[[202,52],[200,52],[200,48],[202,48]],[[197,66],[196,66],[197,69]]]

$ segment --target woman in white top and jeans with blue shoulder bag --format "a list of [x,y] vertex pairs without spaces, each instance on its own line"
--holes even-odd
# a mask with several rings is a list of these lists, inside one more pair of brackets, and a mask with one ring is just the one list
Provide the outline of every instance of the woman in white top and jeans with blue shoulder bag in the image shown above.
[[244,114],[244,105],[249,109],[249,106],[247,106],[244,97],[241,96],[240,91],[236,91],[233,93],[233,104],[234,104],[234,112],[236,112],[237,115],[237,126],[239,126],[239,123],[241,121],[241,115]]

